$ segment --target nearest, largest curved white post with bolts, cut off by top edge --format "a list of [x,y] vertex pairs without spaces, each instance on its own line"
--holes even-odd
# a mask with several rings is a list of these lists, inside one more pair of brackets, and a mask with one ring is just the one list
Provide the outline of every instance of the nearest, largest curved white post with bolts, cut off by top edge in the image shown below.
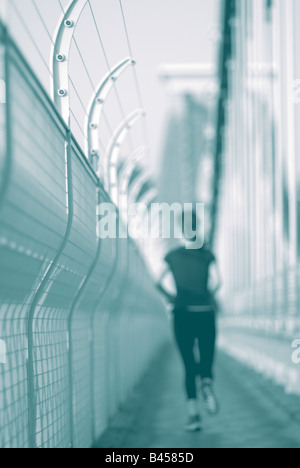
[[69,57],[73,35],[88,0],[71,0],[62,14],[51,49],[51,92],[66,124],[70,126]]

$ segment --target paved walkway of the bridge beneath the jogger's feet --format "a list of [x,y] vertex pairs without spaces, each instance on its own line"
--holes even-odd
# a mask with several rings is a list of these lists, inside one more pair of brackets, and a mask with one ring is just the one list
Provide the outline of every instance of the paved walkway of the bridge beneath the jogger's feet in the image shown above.
[[[182,368],[167,347],[98,446],[103,448],[300,448],[300,400],[219,354],[219,416],[186,434]],[[203,411],[205,414],[205,412]]]

